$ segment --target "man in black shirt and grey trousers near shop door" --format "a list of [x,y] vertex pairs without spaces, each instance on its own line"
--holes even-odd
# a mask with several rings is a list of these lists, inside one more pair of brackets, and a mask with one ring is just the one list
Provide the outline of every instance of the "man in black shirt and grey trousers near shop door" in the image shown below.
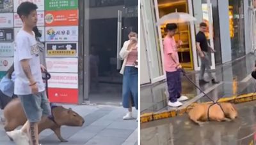
[[211,52],[214,50],[208,45],[205,32],[207,31],[207,25],[202,22],[200,24],[200,31],[196,34],[196,49],[198,50],[200,59],[201,59],[201,68],[200,68],[200,76],[199,76],[199,83],[209,83],[209,81],[205,81],[204,79],[204,72],[205,69],[211,78],[212,83],[219,83],[216,81],[212,76],[211,70]]

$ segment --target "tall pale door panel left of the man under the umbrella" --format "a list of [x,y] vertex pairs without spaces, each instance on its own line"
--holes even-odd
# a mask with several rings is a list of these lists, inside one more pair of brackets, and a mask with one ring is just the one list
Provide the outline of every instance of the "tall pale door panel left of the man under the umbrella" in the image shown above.
[[141,1],[141,23],[145,34],[145,43],[147,49],[147,57],[150,70],[151,82],[155,83],[164,79],[163,49],[161,48],[161,41],[159,41],[156,25],[156,11],[154,1],[142,0]]

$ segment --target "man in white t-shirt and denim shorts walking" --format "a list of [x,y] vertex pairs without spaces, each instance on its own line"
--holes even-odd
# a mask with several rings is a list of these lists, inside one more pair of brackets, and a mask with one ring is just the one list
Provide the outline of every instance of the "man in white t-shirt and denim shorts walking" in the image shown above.
[[15,40],[14,92],[21,100],[28,121],[22,129],[6,133],[18,145],[29,145],[29,142],[38,145],[38,122],[42,115],[51,114],[40,69],[40,48],[36,45],[35,33],[32,31],[37,22],[37,8],[36,4],[30,2],[21,3],[17,8],[23,27]]

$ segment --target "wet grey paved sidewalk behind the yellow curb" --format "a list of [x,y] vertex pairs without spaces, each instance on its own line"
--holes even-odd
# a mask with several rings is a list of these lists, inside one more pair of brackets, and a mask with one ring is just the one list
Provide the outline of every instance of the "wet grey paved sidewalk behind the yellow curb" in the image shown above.
[[[247,55],[234,62],[216,66],[216,71],[212,72],[218,81],[220,81],[220,83],[216,85],[212,83],[199,85],[198,72],[187,72],[187,75],[196,85],[200,86],[211,99],[218,100],[223,97],[255,92],[256,83],[250,76],[254,66],[255,55]],[[205,79],[209,80],[206,73]],[[168,95],[168,92],[166,92],[166,87],[166,82],[161,82],[154,86],[141,87],[141,114],[177,109],[167,106],[166,95]],[[189,100],[184,102],[183,107],[188,106],[191,102],[210,101],[203,93],[196,89],[185,76],[182,76],[182,94],[189,97]]]

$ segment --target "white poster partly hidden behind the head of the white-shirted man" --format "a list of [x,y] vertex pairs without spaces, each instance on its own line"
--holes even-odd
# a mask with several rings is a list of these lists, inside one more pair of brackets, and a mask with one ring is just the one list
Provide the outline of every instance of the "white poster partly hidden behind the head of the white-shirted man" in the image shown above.
[[[44,11],[37,11],[37,26],[44,26]],[[17,13],[14,13],[14,27],[22,27],[22,21]]]

